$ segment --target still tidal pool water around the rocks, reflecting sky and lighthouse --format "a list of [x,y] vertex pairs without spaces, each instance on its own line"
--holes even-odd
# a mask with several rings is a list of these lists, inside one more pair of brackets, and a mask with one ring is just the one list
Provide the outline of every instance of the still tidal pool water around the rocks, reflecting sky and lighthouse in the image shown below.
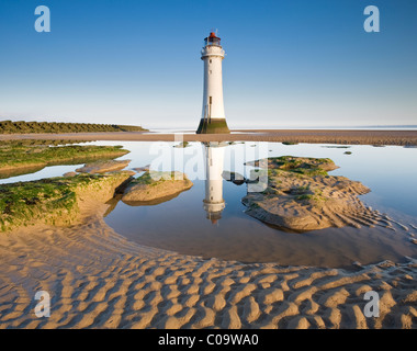
[[[131,150],[119,159],[131,159],[127,169],[150,165],[151,169],[183,171],[194,185],[159,204],[110,202],[105,223],[137,244],[203,258],[241,262],[278,262],[290,265],[345,267],[382,260],[404,261],[417,257],[408,233],[417,230],[417,148],[281,143],[211,144],[95,141],[123,145]],[[351,154],[345,154],[349,151]],[[371,189],[360,196],[365,205],[406,225],[396,231],[382,227],[345,227],[303,234],[270,227],[245,214],[241,199],[248,185],[222,179],[223,171],[249,177],[246,161],[277,156],[330,158],[339,168],[333,176],[361,181]],[[77,166],[54,166],[42,171],[0,180],[12,182],[61,176]],[[161,169],[162,168],[162,169]],[[139,177],[138,173],[137,177]]]

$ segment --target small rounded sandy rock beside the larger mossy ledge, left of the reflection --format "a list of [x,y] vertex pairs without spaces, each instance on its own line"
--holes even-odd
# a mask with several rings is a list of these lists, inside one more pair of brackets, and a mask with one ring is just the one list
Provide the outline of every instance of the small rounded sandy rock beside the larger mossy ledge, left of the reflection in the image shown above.
[[124,191],[124,202],[147,202],[172,196],[189,190],[193,183],[185,174],[173,172],[145,172],[132,181]]

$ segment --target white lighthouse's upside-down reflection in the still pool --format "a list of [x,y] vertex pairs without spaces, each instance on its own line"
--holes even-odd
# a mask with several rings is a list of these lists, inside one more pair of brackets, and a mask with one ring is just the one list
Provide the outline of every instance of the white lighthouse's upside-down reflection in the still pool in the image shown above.
[[211,141],[203,143],[205,158],[205,197],[203,208],[206,212],[206,218],[212,224],[217,224],[222,218],[222,212],[225,208],[223,199],[223,167],[225,155],[225,143]]

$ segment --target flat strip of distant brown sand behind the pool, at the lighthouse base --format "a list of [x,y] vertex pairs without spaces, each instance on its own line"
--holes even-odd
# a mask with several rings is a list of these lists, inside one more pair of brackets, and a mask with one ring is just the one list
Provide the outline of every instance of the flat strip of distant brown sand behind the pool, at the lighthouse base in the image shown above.
[[[182,137],[182,139],[180,139]],[[252,129],[232,134],[173,134],[151,132],[100,132],[63,134],[0,134],[0,140],[109,140],[109,141],[275,141],[343,145],[417,146],[417,131],[358,129]]]

